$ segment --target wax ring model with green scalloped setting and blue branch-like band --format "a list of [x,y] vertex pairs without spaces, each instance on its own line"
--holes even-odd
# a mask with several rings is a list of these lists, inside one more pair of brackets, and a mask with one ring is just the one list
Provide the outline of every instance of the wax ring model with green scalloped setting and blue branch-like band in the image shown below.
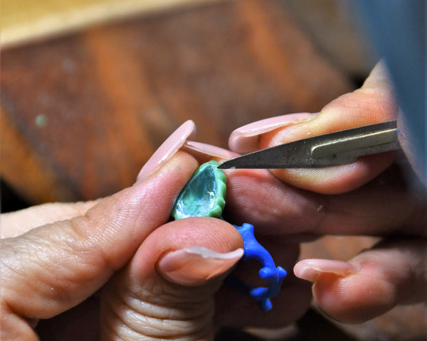
[[[226,175],[218,169],[216,161],[209,161],[201,165],[189,182],[185,185],[172,210],[175,220],[186,217],[216,217],[222,219],[222,211],[226,197]],[[273,258],[255,239],[253,226],[243,224],[241,227],[234,225],[243,238],[243,261],[255,259],[260,262],[258,271],[260,279],[268,281],[268,287],[251,287],[237,278],[231,279],[234,285],[248,293],[258,301],[264,311],[273,308],[270,298],[278,295],[286,271],[280,266],[276,267]]]

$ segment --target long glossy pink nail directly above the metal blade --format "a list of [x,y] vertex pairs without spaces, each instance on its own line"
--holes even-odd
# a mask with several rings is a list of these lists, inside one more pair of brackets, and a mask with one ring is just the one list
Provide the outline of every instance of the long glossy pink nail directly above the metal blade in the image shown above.
[[256,121],[233,131],[228,139],[228,146],[232,151],[238,153],[250,153],[258,149],[259,136],[291,124],[298,124],[304,121],[314,119],[318,113],[311,114],[308,112],[298,114],[287,114],[270,119]]

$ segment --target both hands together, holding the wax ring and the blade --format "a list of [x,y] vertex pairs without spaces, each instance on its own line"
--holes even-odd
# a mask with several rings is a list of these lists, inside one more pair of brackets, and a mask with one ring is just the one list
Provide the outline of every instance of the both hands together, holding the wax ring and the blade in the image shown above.
[[[389,80],[376,67],[361,89],[320,114],[241,127],[230,147],[246,153],[395,119],[397,112]],[[325,313],[346,322],[426,299],[426,203],[386,171],[394,153],[325,169],[228,171],[226,220],[253,224],[260,243],[289,274],[270,313],[221,286],[231,271],[255,281],[253,264],[235,266],[243,247],[236,229],[213,218],[168,222],[176,195],[200,162],[235,156],[189,141],[193,134],[194,124],[183,124],[137,183],[111,197],[1,216],[2,340],[36,340],[38,320],[63,312],[65,318],[53,318],[50,326],[61,340],[68,331],[73,340],[93,340],[98,332],[104,340],[210,340],[214,326],[292,323],[312,295]],[[323,234],[401,237],[384,239],[348,262],[301,261],[294,269],[307,280],[301,281],[290,271],[298,243]]]

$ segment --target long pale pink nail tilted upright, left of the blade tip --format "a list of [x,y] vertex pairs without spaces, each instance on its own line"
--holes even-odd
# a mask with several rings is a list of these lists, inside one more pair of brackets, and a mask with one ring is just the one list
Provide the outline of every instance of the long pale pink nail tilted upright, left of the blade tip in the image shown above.
[[145,163],[141,171],[137,176],[137,182],[148,178],[149,175],[152,175],[157,169],[159,169],[166,161],[169,160],[171,156],[176,153],[176,151],[181,148],[186,139],[190,136],[193,136],[196,132],[196,126],[194,122],[189,120],[181,124],[178,129],[176,129],[171,136],[169,136],[157,151],[154,152],[151,158]]

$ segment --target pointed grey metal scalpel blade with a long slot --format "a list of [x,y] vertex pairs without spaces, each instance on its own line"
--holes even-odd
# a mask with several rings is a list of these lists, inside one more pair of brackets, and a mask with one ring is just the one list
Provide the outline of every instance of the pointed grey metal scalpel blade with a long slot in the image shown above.
[[248,153],[218,168],[322,168],[400,149],[396,120],[335,131]]

